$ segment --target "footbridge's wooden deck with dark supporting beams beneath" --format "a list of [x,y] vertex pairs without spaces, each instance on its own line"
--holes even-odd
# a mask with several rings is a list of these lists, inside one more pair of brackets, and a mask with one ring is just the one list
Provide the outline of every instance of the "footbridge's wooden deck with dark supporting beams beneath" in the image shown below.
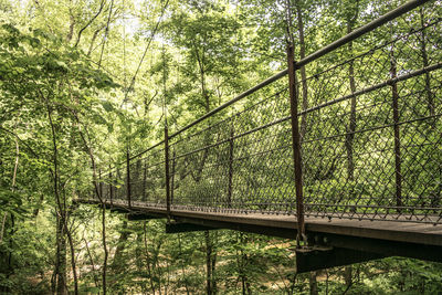
[[[77,200],[98,204],[98,200]],[[107,209],[127,213],[129,220],[168,218],[164,207],[141,202],[104,202]],[[230,229],[241,232],[296,239],[294,215],[264,213],[213,212],[172,209],[166,225],[167,233]],[[346,265],[386,256],[404,256],[442,262],[442,225],[382,220],[306,218],[308,246],[296,250],[299,273]]]

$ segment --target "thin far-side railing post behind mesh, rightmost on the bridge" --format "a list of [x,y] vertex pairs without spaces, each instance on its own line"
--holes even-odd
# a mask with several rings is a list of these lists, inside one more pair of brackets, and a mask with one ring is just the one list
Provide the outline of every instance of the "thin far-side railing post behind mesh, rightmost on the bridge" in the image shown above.
[[[390,52],[390,75],[391,78],[397,77],[396,60],[393,49]],[[399,133],[399,94],[396,82],[391,83],[391,95],[393,98],[393,129],[394,129],[394,175],[396,175],[396,206],[402,207],[402,173],[401,173],[401,150],[400,150],[400,133]],[[400,208],[398,208],[400,212]]]

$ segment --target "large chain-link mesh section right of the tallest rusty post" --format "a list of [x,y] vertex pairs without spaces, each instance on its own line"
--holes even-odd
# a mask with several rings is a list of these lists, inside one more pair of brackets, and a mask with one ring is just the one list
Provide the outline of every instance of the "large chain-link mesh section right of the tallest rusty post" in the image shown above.
[[441,221],[438,15],[396,19],[328,55],[349,59],[301,85],[313,106],[302,115],[307,215]]

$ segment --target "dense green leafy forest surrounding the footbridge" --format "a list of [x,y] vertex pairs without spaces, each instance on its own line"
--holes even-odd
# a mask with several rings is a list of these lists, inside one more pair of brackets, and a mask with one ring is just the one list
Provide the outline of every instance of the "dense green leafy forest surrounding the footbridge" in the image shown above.
[[[96,183],[110,168],[122,167],[128,157],[162,140],[166,123],[171,131],[179,130],[286,69],[287,42],[294,44],[295,60],[302,60],[403,2],[0,0],[0,293],[440,294],[442,265],[438,263],[388,257],[297,274],[296,241],[293,240],[230,230],[166,234],[166,220],[129,221],[126,214],[105,207],[74,202],[91,196],[94,191],[91,183]],[[423,28],[431,22],[434,24],[429,25],[431,29],[418,30],[420,45],[401,48],[399,42],[394,43],[399,44],[397,52],[408,55],[407,61],[398,59],[398,73],[408,73],[407,66],[413,63],[419,63],[420,69],[440,62],[441,11],[440,1],[430,1],[414,11],[415,19],[403,18],[394,27],[371,33],[345,49],[350,54],[365,56],[367,50],[379,45],[376,43],[379,35],[389,34],[393,39],[394,33],[407,33],[410,28]],[[393,55],[393,46],[382,50],[386,56]],[[390,59],[372,51],[369,56],[376,62],[370,66],[361,57],[355,60],[355,65],[350,62],[349,70],[336,67],[325,74],[345,81],[340,86],[320,84],[325,78],[317,77],[325,71],[325,64],[348,59],[347,51],[337,51],[324,61],[299,69],[303,82],[307,76],[314,77],[308,82],[309,87],[301,83],[304,109],[326,101],[315,93],[322,87],[330,97],[337,97],[336,93],[341,96],[355,93],[361,85],[352,78],[354,66],[371,71],[366,74],[367,81],[378,78],[377,71],[392,72]],[[428,82],[422,86],[428,97],[424,106],[413,107],[410,103],[403,107],[411,119],[419,112],[439,118],[441,74],[431,75],[438,77],[434,80],[439,84],[430,87],[430,74],[422,75],[422,85]],[[376,78],[376,83],[382,81],[380,75]],[[262,94],[281,102],[276,107],[264,109],[253,105],[259,95],[238,106],[249,109],[250,117],[257,117],[255,120],[242,117],[241,128],[267,124],[270,115],[288,114],[288,101],[278,99],[280,94],[284,96],[284,83],[275,83]],[[355,105],[356,98],[346,109],[356,109]],[[348,117],[355,114],[351,110]],[[229,115],[219,114],[220,117]],[[355,133],[357,126],[351,122],[356,119],[350,119],[347,126],[333,118],[330,115],[328,120],[324,119],[319,129],[339,133],[341,127],[350,130],[349,134]],[[386,120],[382,115],[365,119],[358,122],[359,127]],[[213,135],[228,137],[232,133],[229,126],[209,129],[211,135],[201,140]],[[312,126],[305,117],[301,119],[303,138],[323,136],[314,134],[318,131],[312,131]],[[267,133],[285,135],[288,127]],[[440,198],[441,178],[432,176],[442,162],[440,133],[434,131],[440,127],[434,120],[423,126],[424,129],[410,131],[419,133],[425,140],[430,138],[431,143],[427,145],[428,150],[420,150],[414,157],[439,152],[439,158],[431,161],[432,166],[403,164],[402,169],[415,176],[413,185],[403,185],[403,194],[417,190],[414,183],[418,183],[439,190],[434,194]],[[327,136],[334,136],[333,131]],[[392,138],[385,141],[393,144]],[[410,138],[404,136],[406,144],[402,143],[410,147],[406,155],[412,154],[417,145],[415,137]],[[285,143],[286,138],[272,140]],[[313,185],[307,187],[307,196],[332,198],[336,191],[347,189],[339,183],[351,183],[354,175],[362,173],[354,167],[357,165],[352,162],[354,150],[375,149],[364,140],[357,141],[350,135],[333,150],[306,145],[309,155],[325,158],[324,155],[332,154],[326,161],[312,160],[305,166],[305,181],[327,180],[332,183],[328,188],[333,187],[324,192],[323,187]],[[176,145],[182,143],[190,140]],[[228,150],[229,141],[225,143]],[[186,147],[182,150],[187,151]],[[340,162],[335,156],[338,154],[343,158]],[[200,156],[194,157],[192,160],[198,164]],[[286,158],[287,162],[292,160],[291,156]],[[259,170],[259,165],[244,165],[242,169]],[[385,176],[379,167],[386,162],[377,161],[377,165],[369,172],[381,171],[380,179]],[[340,173],[335,172],[339,169]],[[292,186],[291,178],[275,176],[283,179],[281,191]],[[261,178],[264,183],[271,176]],[[259,188],[254,192],[256,198],[263,194],[259,180],[259,177],[254,179]],[[376,194],[380,192],[379,182],[360,190]],[[181,183],[177,199],[185,198],[189,187],[186,180]],[[208,193],[201,186],[200,190]],[[392,188],[393,183],[388,186]],[[419,202],[418,197],[415,200]],[[393,202],[402,204],[399,203],[402,199]],[[428,207],[440,210],[439,201]]]

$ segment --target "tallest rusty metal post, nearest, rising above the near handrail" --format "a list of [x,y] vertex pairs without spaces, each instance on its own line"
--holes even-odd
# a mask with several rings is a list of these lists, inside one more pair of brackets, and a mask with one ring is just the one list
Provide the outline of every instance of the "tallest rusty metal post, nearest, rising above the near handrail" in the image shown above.
[[287,44],[287,63],[288,63],[288,89],[291,103],[291,117],[292,117],[292,148],[293,161],[295,167],[295,189],[296,189],[296,219],[297,219],[297,246],[301,246],[301,240],[305,239],[305,224],[304,224],[304,196],[303,196],[303,170],[301,159],[301,136],[298,123],[298,89],[296,81],[296,70],[294,61],[293,43]]

